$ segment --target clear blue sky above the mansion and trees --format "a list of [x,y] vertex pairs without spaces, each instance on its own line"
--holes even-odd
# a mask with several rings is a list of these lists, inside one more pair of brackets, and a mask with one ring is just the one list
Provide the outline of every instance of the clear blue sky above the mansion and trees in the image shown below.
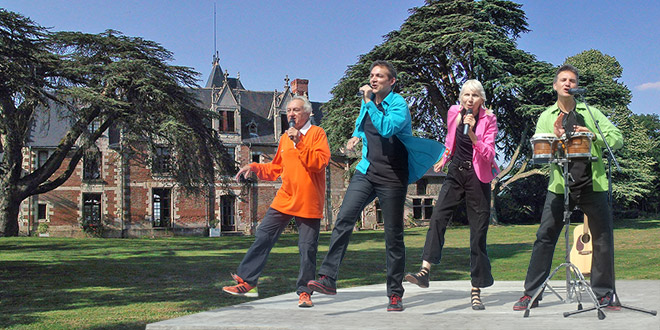
[[[554,65],[588,49],[623,66],[635,113],[660,113],[660,2],[517,1],[531,32],[519,47]],[[214,42],[213,7],[216,4]],[[423,0],[0,0],[0,6],[53,31],[106,29],[154,40],[174,53],[174,64],[211,70],[214,44],[220,65],[252,90],[282,90],[285,75],[309,79],[310,98],[327,101],[348,65],[396,30]],[[550,82],[549,82],[550,83]]]

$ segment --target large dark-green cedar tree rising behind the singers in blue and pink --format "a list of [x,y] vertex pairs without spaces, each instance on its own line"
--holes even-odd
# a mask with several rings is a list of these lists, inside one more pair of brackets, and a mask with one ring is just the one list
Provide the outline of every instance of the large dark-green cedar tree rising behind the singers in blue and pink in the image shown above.
[[[516,39],[528,31],[520,7],[501,0],[428,0],[411,9],[401,28],[360,56],[331,91],[323,123],[331,144],[340,148],[353,131],[359,110],[355,91],[367,83],[373,60],[389,60],[397,67],[398,89],[410,104],[415,132],[439,140],[461,85],[478,79],[486,89],[486,105],[498,118],[498,147],[510,164],[492,183],[491,215],[496,221],[499,185],[541,173],[525,172],[528,157],[519,158],[528,154],[534,117],[552,101],[552,66],[517,48]],[[517,175],[520,169],[527,174]]]

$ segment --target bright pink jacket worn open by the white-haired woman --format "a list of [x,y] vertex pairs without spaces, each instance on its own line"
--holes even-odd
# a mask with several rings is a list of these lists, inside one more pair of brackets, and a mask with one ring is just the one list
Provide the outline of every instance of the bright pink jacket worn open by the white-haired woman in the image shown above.
[[[461,106],[452,105],[447,114],[447,138],[445,139],[445,154],[443,164],[454,155],[456,143],[456,127],[462,122]],[[500,172],[495,163],[495,137],[497,136],[497,118],[495,114],[484,108],[479,109],[479,119],[475,130],[477,144],[473,145],[472,164],[479,181],[488,183]]]

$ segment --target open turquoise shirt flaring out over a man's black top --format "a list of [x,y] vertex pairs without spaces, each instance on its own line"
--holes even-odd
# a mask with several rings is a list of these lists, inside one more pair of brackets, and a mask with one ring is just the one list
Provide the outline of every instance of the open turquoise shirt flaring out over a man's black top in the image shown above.
[[384,138],[396,136],[408,150],[408,183],[421,178],[426,171],[440,160],[445,146],[435,140],[423,139],[412,135],[412,123],[408,103],[399,94],[390,92],[382,103],[384,112],[380,112],[374,102],[365,103],[362,100],[360,115],[355,121],[353,136],[362,140],[362,159],[357,170],[367,174],[369,161],[367,153],[369,145],[364,134],[364,117],[369,114],[371,122]]

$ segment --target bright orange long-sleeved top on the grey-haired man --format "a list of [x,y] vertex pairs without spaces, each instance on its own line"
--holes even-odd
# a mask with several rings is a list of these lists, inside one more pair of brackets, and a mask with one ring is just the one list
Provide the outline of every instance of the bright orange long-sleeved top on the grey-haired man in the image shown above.
[[282,177],[282,186],[270,207],[284,214],[320,219],[330,146],[325,131],[319,126],[308,122],[300,132],[300,142],[296,145],[283,134],[273,161],[250,163],[250,169],[261,180],[275,181]]

